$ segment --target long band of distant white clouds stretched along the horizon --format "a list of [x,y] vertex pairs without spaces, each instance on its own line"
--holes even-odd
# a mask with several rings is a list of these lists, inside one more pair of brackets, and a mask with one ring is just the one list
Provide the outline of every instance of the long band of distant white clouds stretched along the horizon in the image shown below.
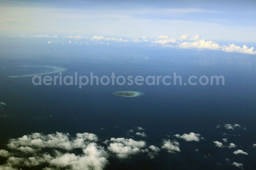
[[[3,36],[4,37],[4,36]],[[29,38],[44,38],[48,39],[46,41],[48,44],[51,44],[53,40],[58,39],[58,35],[49,36],[45,35],[9,35],[7,37],[29,37]],[[94,35],[92,37],[83,37],[81,35],[70,35],[64,36],[62,39],[72,39],[73,40],[86,40],[86,42],[82,43],[74,43],[74,44],[88,44],[92,42],[93,44],[107,44],[102,41],[113,41],[113,42],[133,42],[133,43],[140,43],[144,42],[147,43],[146,45],[153,46],[159,45],[161,47],[171,47],[171,48],[182,48],[182,49],[196,49],[196,50],[217,50],[217,51],[224,51],[224,52],[232,52],[232,53],[243,53],[243,54],[252,54],[256,55],[256,51],[254,51],[254,47],[248,47],[246,45],[237,46],[233,43],[228,45],[220,45],[211,40],[205,40],[204,38],[200,38],[199,35],[195,35],[190,37],[188,34],[182,35],[180,38],[177,37],[169,37],[168,35],[153,35],[153,36],[146,36],[143,35],[141,37],[126,37],[123,38],[114,38],[114,37],[103,37],[102,35]],[[51,40],[51,41],[49,41]],[[96,41],[96,42],[95,42]],[[101,42],[99,42],[101,41]],[[63,43],[63,42],[62,42]],[[149,43],[149,44],[148,44]],[[73,44],[71,41],[68,41],[68,44]]]

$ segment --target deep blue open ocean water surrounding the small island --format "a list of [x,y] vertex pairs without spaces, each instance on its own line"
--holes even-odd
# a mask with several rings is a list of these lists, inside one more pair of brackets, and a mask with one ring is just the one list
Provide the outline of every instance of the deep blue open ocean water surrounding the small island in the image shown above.
[[[157,76],[176,72],[183,82],[191,75],[224,76],[225,85],[142,86],[127,84],[78,86],[34,86],[31,77],[9,78],[17,67],[0,68],[0,143],[33,132],[95,133],[102,140],[125,137],[129,129],[145,129],[145,140],[161,147],[162,139],[175,134],[200,133],[205,140],[180,142],[181,152],[161,150],[154,160],[138,155],[127,160],[110,159],[106,169],[234,169],[225,162],[241,162],[244,169],[256,168],[256,57],[222,51],[195,51],[151,47],[140,44],[107,45],[35,44],[30,40],[7,41],[0,46],[0,66],[49,65],[67,68],[62,76],[103,75]],[[58,75],[58,74],[53,74]],[[125,98],[116,91],[141,91],[143,96]],[[50,115],[52,117],[50,117]],[[223,124],[239,124],[227,130]],[[221,128],[215,126],[222,125]],[[116,128],[115,126],[118,126]],[[243,128],[246,127],[246,130]],[[104,128],[104,130],[101,130]],[[235,155],[235,149],[217,148],[213,141],[228,140],[248,155]],[[170,137],[166,137],[169,135]],[[239,136],[234,136],[239,135]],[[223,142],[224,143],[224,142]],[[195,152],[195,149],[199,149]],[[1,149],[1,148],[0,148]],[[207,156],[207,157],[205,157]],[[219,166],[216,163],[221,163]]]

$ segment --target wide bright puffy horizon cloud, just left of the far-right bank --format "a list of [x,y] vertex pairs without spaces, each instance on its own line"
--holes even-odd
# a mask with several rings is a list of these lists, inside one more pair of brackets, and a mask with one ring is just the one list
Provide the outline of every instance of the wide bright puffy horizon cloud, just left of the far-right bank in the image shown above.
[[179,44],[180,48],[196,48],[196,49],[209,49],[209,50],[220,50],[221,46],[213,41],[205,41],[204,39],[194,42],[183,42]]

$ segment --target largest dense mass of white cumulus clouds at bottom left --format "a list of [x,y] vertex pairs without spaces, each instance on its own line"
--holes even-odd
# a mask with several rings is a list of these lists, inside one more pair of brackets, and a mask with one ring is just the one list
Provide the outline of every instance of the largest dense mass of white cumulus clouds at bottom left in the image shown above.
[[[10,139],[7,146],[24,152],[23,158],[11,156],[8,151],[0,150],[1,156],[8,157],[0,169],[21,166],[34,167],[44,164],[49,166],[44,168],[45,170],[59,168],[102,170],[108,164],[109,155],[104,147],[95,143],[97,141],[98,136],[93,133],[77,133],[76,137],[72,138],[68,133],[59,132],[49,135],[31,133],[21,138]],[[52,148],[55,153],[41,153],[42,148]],[[82,154],[70,153],[75,148],[81,148]],[[61,149],[61,151],[55,149]],[[31,153],[33,153],[33,157],[31,157]]]

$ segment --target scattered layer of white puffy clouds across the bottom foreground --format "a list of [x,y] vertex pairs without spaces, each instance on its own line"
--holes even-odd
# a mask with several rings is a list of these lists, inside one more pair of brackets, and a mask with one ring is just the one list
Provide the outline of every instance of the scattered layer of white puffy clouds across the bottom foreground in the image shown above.
[[[232,127],[239,126],[232,125]],[[103,141],[97,135],[87,132],[77,133],[74,137],[70,136],[69,133],[61,132],[48,135],[31,133],[20,138],[9,139],[6,145],[7,148],[0,149],[0,157],[5,160],[4,164],[0,165],[0,169],[17,170],[44,166],[44,170],[67,168],[70,170],[103,170],[110,163],[109,159],[113,157],[121,161],[130,159],[135,155],[155,159],[162,152],[172,154],[186,152],[185,150],[181,151],[180,148],[182,146],[173,138],[180,138],[187,142],[204,140],[199,133],[190,132],[183,135],[166,135],[166,137],[172,139],[162,139],[162,142],[152,145],[141,140],[142,134],[145,134],[143,132],[145,129],[141,127],[134,127],[134,129],[142,132],[135,133],[134,130],[130,129],[126,135],[136,134],[137,136],[131,135],[131,137],[136,137],[140,140],[110,138]],[[137,133],[140,133],[140,135]],[[224,138],[223,141],[227,142],[227,138]],[[237,148],[234,143],[224,146],[219,141],[213,142],[219,148]],[[196,149],[195,152],[200,153],[199,149]],[[236,151],[230,150],[230,154],[248,155],[247,152],[240,149]],[[233,162],[228,164],[243,168],[242,163]]]

